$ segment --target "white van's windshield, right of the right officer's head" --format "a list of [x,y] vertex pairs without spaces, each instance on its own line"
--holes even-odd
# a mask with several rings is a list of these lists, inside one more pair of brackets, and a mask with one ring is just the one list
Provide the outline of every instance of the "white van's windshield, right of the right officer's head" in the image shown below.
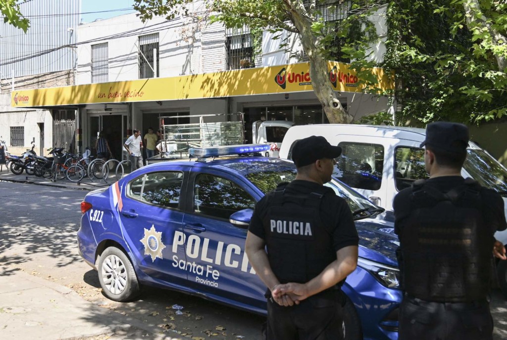
[[468,149],[463,168],[474,180],[501,195],[507,195],[507,171],[484,150]]

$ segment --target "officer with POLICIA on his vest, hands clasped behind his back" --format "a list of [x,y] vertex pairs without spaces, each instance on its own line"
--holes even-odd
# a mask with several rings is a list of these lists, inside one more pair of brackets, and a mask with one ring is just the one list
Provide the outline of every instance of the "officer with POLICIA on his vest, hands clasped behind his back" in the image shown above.
[[245,251],[268,287],[268,340],[343,339],[340,287],[359,238],[347,202],[323,186],[340,153],[323,137],[299,140],[296,179],[256,205]]

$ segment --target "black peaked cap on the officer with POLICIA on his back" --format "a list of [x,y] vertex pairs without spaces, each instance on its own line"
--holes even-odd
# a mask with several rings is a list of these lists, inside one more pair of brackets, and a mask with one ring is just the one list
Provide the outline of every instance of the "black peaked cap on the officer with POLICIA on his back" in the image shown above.
[[314,163],[317,159],[334,159],[342,153],[342,148],[332,146],[322,136],[310,136],[300,139],[292,150],[292,160],[296,167]]

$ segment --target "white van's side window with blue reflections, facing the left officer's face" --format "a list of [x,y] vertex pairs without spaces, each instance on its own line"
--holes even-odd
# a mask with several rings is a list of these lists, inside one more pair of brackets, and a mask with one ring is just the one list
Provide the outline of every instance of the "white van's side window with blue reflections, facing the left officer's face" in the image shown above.
[[379,144],[341,142],[335,177],[356,189],[379,190],[384,168],[384,147]]

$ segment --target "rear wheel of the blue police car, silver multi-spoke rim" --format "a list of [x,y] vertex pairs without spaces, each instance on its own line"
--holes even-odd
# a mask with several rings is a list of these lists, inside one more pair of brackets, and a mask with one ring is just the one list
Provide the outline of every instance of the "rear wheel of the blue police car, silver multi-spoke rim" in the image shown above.
[[108,299],[126,302],[139,293],[134,267],[126,254],[116,247],[108,247],[102,252],[98,275],[102,291]]

